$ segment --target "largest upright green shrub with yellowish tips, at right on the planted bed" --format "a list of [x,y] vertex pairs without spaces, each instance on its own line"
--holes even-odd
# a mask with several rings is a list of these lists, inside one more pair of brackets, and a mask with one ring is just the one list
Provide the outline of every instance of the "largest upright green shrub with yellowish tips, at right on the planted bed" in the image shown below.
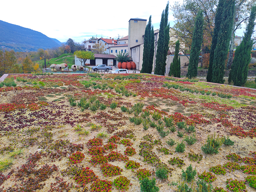
[[201,149],[206,154],[218,154],[218,149],[224,143],[224,140],[224,137],[220,137],[219,135],[216,137],[215,133],[213,135],[208,135],[207,140]]

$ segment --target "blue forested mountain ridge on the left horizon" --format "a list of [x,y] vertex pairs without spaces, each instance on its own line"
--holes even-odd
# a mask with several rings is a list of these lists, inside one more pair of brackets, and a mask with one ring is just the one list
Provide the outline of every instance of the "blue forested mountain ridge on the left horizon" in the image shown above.
[[0,20],[0,49],[29,52],[39,48],[59,47],[60,44],[57,39],[47,37],[38,31]]

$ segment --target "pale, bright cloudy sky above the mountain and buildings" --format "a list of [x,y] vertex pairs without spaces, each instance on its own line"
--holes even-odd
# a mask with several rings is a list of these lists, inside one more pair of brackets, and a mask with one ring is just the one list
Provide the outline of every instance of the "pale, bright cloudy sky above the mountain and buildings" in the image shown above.
[[[183,0],[176,0],[182,4]],[[152,15],[154,29],[159,29],[166,0],[12,0],[1,2],[0,20],[41,32],[60,42],[68,38],[80,43],[90,37],[115,38],[128,35],[131,18],[147,19]],[[172,6],[174,1],[170,1]],[[169,10],[170,26],[174,18]],[[243,30],[237,32],[243,35]]]

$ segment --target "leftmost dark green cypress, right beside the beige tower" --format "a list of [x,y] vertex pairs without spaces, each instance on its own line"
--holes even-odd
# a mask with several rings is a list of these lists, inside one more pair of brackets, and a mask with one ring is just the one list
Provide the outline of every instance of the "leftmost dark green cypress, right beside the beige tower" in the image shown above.
[[[142,59],[142,69],[140,73],[152,73],[153,68],[153,58],[154,58],[154,29],[153,29],[153,42],[152,42],[152,29],[151,26],[151,15],[148,20],[148,25],[145,29],[144,35],[144,48],[143,48],[143,59]],[[152,57],[153,52],[153,57]],[[150,71],[151,70],[151,71]]]

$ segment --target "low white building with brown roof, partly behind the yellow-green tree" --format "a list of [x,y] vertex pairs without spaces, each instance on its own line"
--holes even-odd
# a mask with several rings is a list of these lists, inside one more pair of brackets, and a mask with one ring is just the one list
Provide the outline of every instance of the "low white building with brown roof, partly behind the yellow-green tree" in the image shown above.
[[[107,66],[114,66],[116,65],[116,60],[114,60],[116,58],[115,55],[111,55],[111,54],[94,54],[94,60],[86,60],[85,63],[90,63],[91,66],[98,66],[98,65],[102,65],[105,64]],[[81,61],[79,61],[79,59],[75,56],[75,65],[81,65]]]

